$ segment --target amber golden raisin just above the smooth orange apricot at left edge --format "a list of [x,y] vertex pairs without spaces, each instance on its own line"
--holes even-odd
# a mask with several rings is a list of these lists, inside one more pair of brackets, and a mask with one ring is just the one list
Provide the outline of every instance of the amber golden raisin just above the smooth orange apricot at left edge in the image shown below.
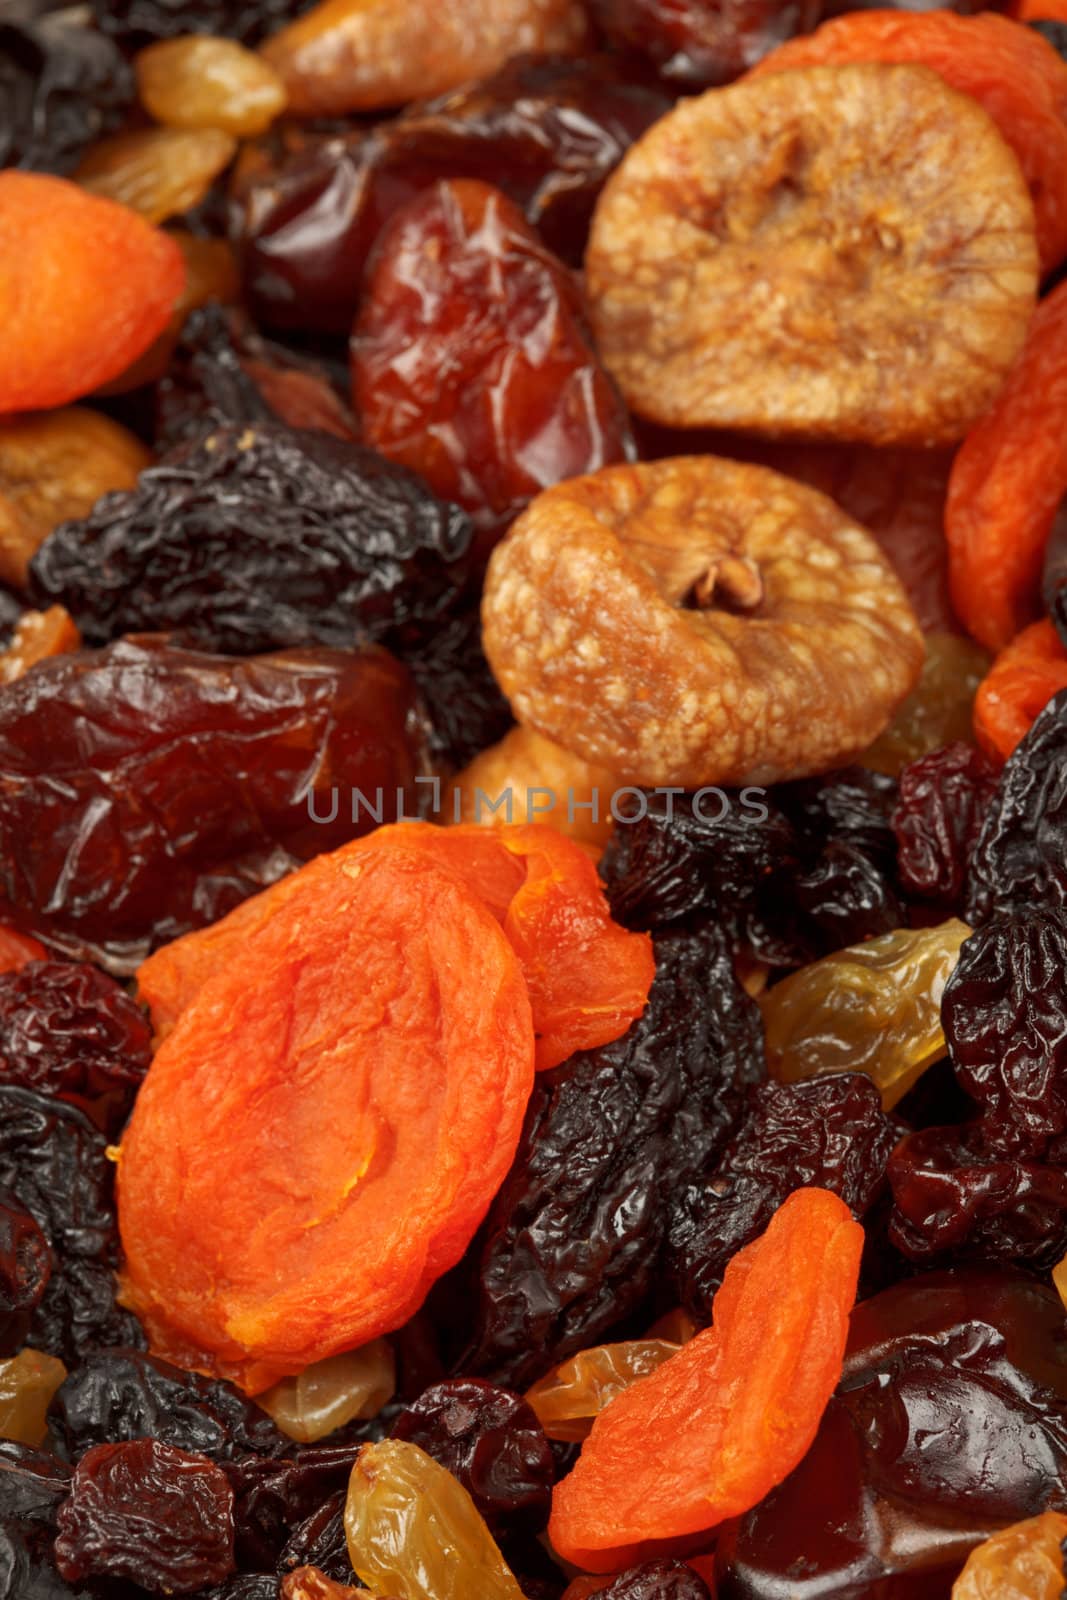
[[200,205],[235,150],[232,134],[218,128],[142,128],[91,146],[74,178],[147,222],[165,222]]

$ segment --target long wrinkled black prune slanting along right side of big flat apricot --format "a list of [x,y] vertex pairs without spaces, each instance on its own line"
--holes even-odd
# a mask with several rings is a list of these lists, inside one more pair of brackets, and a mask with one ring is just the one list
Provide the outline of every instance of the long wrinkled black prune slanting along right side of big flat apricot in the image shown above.
[[488,1218],[464,1371],[525,1387],[637,1310],[670,1211],[763,1077],[758,1011],[712,925],[661,934],[624,1038],[537,1075]]

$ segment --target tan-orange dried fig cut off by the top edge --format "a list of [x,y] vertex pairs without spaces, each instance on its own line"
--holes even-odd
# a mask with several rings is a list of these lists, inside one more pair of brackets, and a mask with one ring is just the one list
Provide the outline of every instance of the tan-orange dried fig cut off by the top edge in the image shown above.
[[577,53],[579,0],[320,0],[269,38],[296,117],[339,117],[429,99],[528,50]]

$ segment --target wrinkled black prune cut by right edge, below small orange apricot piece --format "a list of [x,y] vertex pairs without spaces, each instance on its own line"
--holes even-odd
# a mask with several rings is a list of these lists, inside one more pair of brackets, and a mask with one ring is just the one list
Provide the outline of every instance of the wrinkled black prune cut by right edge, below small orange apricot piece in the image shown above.
[[971,854],[966,920],[1067,904],[1067,690],[1016,746]]

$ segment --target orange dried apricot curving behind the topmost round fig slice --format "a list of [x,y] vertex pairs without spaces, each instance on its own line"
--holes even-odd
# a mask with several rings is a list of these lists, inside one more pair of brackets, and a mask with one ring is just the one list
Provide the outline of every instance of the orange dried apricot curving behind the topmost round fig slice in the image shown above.
[[[793,38],[757,74],[856,61],[915,62],[973,96],[1019,158],[1041,267],[1067,254],[1067,62],[1032,29],[955,11],[853,11]],[[753,74],[755,75],[755,74]]]

